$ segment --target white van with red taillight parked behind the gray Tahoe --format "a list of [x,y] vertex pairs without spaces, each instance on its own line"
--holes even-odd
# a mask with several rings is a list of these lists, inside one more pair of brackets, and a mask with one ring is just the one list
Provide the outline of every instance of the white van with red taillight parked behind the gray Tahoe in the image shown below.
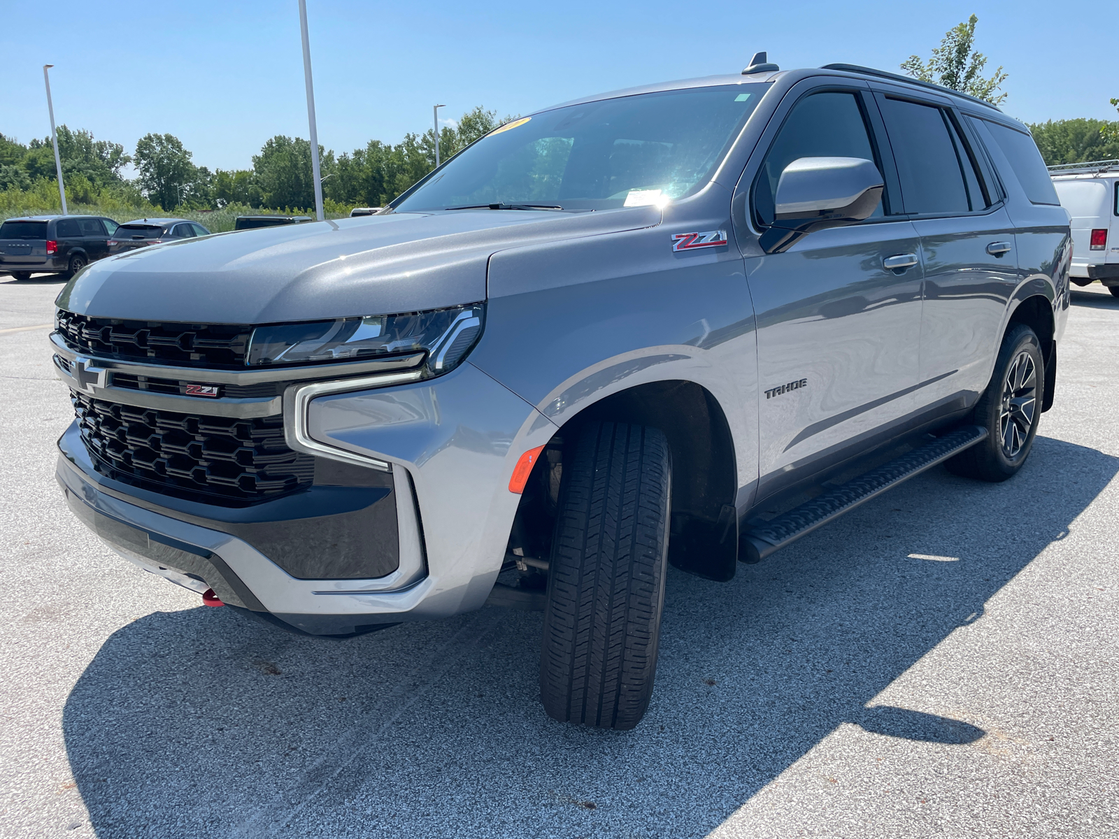
[[1099,280],[1119,298],[1119,160],[1051,166],[1061,206],[1072,216],[1072,282]]

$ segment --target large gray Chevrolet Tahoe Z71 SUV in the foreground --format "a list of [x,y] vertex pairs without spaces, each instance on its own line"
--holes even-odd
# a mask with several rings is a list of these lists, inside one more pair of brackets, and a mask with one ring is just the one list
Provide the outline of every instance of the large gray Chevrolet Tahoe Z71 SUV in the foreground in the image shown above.
[[726,581],[935,464],[1022,469],[1070,251],[1029,133],[951,91],[760,59],[589,96],[376,216],[91,265],[57,477],[292,632],[539,609],[547,713],[631,728],[667,564]]

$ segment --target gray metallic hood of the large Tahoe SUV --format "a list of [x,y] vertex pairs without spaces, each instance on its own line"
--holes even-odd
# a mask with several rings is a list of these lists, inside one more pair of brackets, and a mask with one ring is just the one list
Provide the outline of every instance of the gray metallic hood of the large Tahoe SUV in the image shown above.
[[659,224],[655,207],[600,213],[401,213],[238,230],[101,260],[58,295],[94,318],[275,323],[389,314],[486,299],[509,247]]

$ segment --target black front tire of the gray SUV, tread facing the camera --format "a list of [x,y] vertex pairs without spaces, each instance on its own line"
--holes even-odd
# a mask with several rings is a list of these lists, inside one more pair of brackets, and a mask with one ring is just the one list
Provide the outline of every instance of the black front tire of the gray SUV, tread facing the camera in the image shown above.
[[671,459],[642,425],[591,423],[565,453],[548,569],[540,700],[554,719],[629,729],[652,696]]

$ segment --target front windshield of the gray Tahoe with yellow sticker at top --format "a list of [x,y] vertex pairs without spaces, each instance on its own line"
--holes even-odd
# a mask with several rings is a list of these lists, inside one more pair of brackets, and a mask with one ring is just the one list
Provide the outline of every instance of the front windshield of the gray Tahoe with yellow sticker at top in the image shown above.
[[703,186],[765,88],[754,83],[645,93],[514,120],[393,209],[611,209],[683,198]]

